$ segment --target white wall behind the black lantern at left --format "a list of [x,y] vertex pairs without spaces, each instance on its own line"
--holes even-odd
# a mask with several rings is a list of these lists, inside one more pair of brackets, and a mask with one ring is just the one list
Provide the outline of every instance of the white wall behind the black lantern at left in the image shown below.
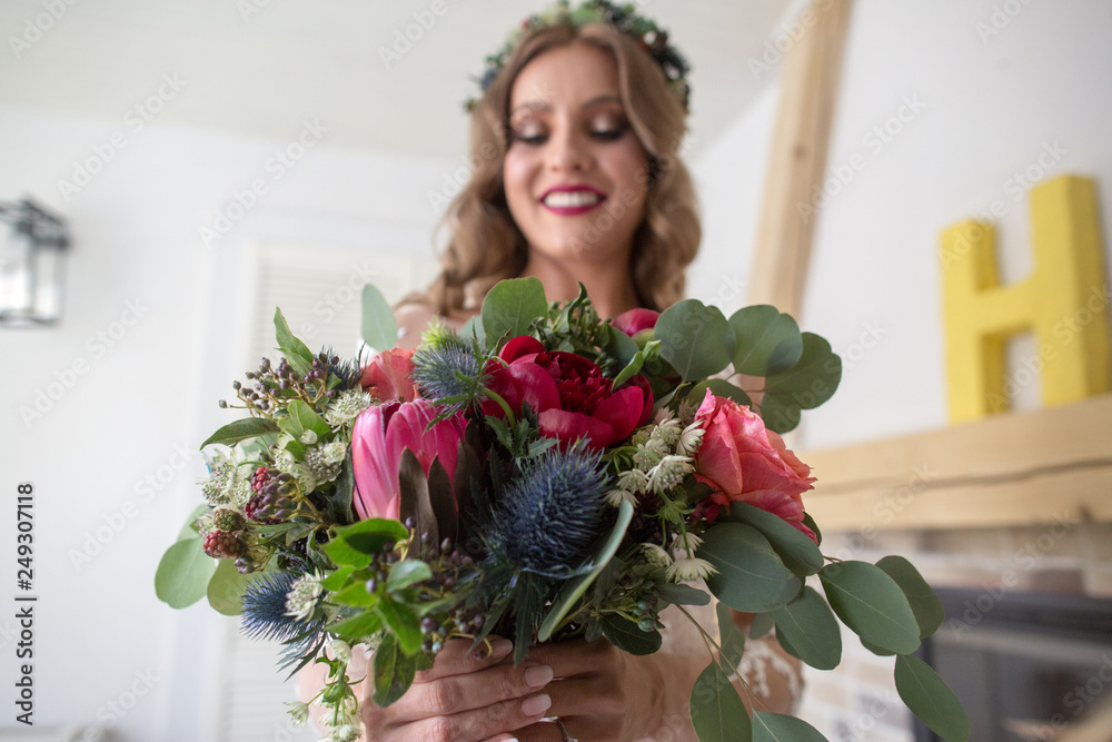
[[[326,132],[276,179],[265,164],[300,128],[295,121],[289,140],[268,141],[0,110],[0,199],[29,194],[68,219],[73,236],[61,325],[0,330],[0,486],[9,504],[17,482],[33,483],[37,496],[37,725],[106,722],[115,716],[107,704],[130,704],[136,673],[149,671],[157,680],[112,739],[217,739],[214,674],[228,620],[203,603],[170,610],[155,597],[153,574],[200,502],[195,482],[205,469],[193,452],[229,421],[216,400],[247,370],[234,357],[244,256],[250,245],[274,241],[360,248],[369,257],[430,250],[436,215],[427,192],[459,166],[331,148]],[[127,133],[127,146],[66,200],[58,179],[116,131]],[[199,227],[211,226],[214,210],[254,178],[266,179],[268,192],[206,248]],[[138,317],[125,314],[129,301]],[[79,360],[85,373],[67,372]],[[21,410],[34,409],[40,390],[58,398],[43,396],[44,412],[24,421]],[[14,532],[13,511],[0,515],[4,534]],[[99,553],[75,564],[98,528],[107,543],[93,542]],[[14,583],[13,561],[4,560],[6,585]],[[9,617],[0,619],[0,685],[8,689],[16,677],[12,613],[6,607]],[[6,713],[0,738],[11,729]]]

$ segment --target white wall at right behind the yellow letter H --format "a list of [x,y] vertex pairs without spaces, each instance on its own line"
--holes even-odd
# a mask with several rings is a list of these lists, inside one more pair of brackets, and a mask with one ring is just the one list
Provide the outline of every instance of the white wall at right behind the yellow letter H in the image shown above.
[[[843,355],[845,373],[834,398],[804,415],[796,445],[822,448],[946,424],[939,235],[1001,201],[1002,278],[1022,278],[1032,266],[1029,214],[1014,176],[1029,167],[1037,176],[1044,151],[1060,150],[1044,157],[1052,162],[1044,177],[1096,179],[1108,221],[1110,38],[1112,4],[1104,0],[854,3],[828,176],[844,172],[855,155],[864,167],[845,185],[830,181],[835,195],[820,201],[801,317],[804,329]],[[773,98],[762,98],[694,164],[703,200],[735,208],[707,219],[693,296],[708,300],[721,275],[744,276],[752,264]],[[892,121],[909,102],[910,120]],[[886,123],[898,131],[882,139],[874,129]],[[1112,261],[1106,227],[1104,234]]]

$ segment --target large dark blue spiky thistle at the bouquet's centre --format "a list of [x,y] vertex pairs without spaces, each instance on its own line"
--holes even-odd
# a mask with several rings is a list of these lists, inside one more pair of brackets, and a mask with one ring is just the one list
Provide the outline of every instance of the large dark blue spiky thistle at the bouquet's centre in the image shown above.
[[598,535],[607,476],[582,442],[528,459],[498,498],[486,530],[496,560],[528,572],[567,573]]

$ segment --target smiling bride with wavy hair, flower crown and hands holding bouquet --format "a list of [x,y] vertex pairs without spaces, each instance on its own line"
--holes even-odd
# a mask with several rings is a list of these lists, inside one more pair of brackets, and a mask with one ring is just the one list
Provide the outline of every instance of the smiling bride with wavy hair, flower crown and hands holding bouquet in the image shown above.
[[[458,328],[504,278],[536,277],[549,300],[574,298],[582,281],[604,317],[683,298],[699,222],[677,157],[688,98],[682,57],[651,20],[597,0],[558,6],[515,36],[489,58],[481,97],[470,101],[475,172],[447,214],[439,277],[397,311],[403,347],[435,317]],[[664,650],[647,656],[570,641],[535,647],[515,666],[506,640],[481,660],[466,654],[468,642],[450,642],[389,708],[367,689],[364,739],[694,740],[688,696],[709,657],[684,616],[662,617]],[[742,629],[752,621],[733,619]],[[713,633],[713,609],[703,621]],[[798,672],[766,636],[748,642],[736,684],[746,705],[784,713]],[[320,687],[315,673],[302,672],[302,692]]]

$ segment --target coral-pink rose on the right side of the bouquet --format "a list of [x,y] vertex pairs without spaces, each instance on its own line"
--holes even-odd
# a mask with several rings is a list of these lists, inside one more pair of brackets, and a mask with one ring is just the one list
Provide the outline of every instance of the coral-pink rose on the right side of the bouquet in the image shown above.
[[[707,389],[695,413],[703,445],[695,454],[695,478],[712,489],[711,501],[726,506],[749,503],[784,518],[817,543],[803,524],[802,493],[812,489],[811,467],[784,447],[745,405],[716,397]],[[712,508],[707,508],[708,511]]]

